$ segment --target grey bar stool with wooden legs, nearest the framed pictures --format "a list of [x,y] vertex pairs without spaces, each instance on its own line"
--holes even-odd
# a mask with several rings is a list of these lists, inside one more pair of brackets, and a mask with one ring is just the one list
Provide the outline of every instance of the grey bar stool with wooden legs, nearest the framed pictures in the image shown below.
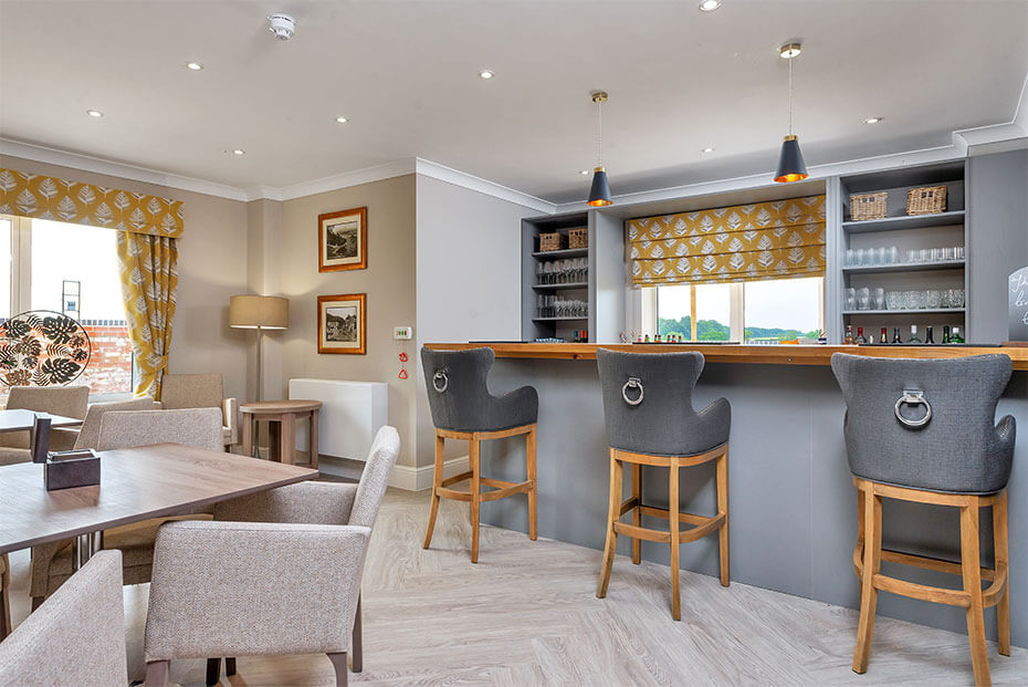
[[[424,549],[432,542],[439,499],[471,502],[471,562],[479,562],[479,508],[515,493],[528,495],[528,539],[537,537],[536,518],[536,423],[539,396],[535,388],[523,386],[501,397],[489,393],[486,377],[496,355],[492,348],[470,351],[430,351],[421,348],[424,384],[436,425],[436,470],[432,480],[432,508]],[[525,435],[527,479],[507,482],[481,476],[481,443]],[[443,479],[443,447],[447,439],[468,441],[469,470]],[[451,489],[451,485],[470,480],[470,489]],[[482,486],[493,491],[482,491]]]

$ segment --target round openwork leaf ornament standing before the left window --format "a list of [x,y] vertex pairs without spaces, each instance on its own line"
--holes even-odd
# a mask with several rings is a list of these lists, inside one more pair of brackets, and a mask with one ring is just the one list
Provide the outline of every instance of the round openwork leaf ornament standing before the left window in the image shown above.
[[8,386],[70,384],[92,353],[82,325],[59,312],[30,310],[0,324],[0,382]]

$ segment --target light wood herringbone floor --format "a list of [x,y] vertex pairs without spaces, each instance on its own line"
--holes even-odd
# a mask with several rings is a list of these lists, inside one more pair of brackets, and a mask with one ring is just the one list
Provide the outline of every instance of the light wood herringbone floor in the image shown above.
[[[683,572],[675,623],[662,565],[618,556],[599,600],[599,551],[486,527],[472,565],[466,504],[442,501],[432,549],[422,551],[427,517],[428,493],[389,491],[365,572],[365,670],[354,684],[974,684],[964,635],[880,616],[868,673],[856,675],[853,611]],[[28,555],[12,565],[17,623]],[[143,674],[146,597],[146,585],[125,587],[133,677]],[[1025,649],[1007,658],[990,643],[989,663],[994,685],[1028,684]],[[333,684],[324,656],[244,657],[239,670],[222,684]],[[172,663],[171,676],[202,685],[203,664]]]

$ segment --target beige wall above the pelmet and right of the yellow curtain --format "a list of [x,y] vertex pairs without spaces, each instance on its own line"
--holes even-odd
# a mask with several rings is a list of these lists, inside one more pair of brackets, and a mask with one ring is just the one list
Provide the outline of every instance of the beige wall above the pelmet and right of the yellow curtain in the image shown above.
[[186,229],[179,240],[170,369],[220,372],[227,395],[245,396],[248,337],[228,325],[229,296],[246,290],[244,202],[9,155],[0,156],[0,166],[181,200]]

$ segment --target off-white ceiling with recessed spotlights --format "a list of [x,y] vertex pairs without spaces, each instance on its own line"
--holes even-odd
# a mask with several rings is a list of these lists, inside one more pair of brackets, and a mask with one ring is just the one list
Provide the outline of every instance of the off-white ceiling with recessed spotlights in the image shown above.
[[942,146],[1014,118],[1028,0],[0,0],[0,136],[240,188],[421,157],[570,202],[595,89],[616,195],[772,171],[790,39],[808,165]]

